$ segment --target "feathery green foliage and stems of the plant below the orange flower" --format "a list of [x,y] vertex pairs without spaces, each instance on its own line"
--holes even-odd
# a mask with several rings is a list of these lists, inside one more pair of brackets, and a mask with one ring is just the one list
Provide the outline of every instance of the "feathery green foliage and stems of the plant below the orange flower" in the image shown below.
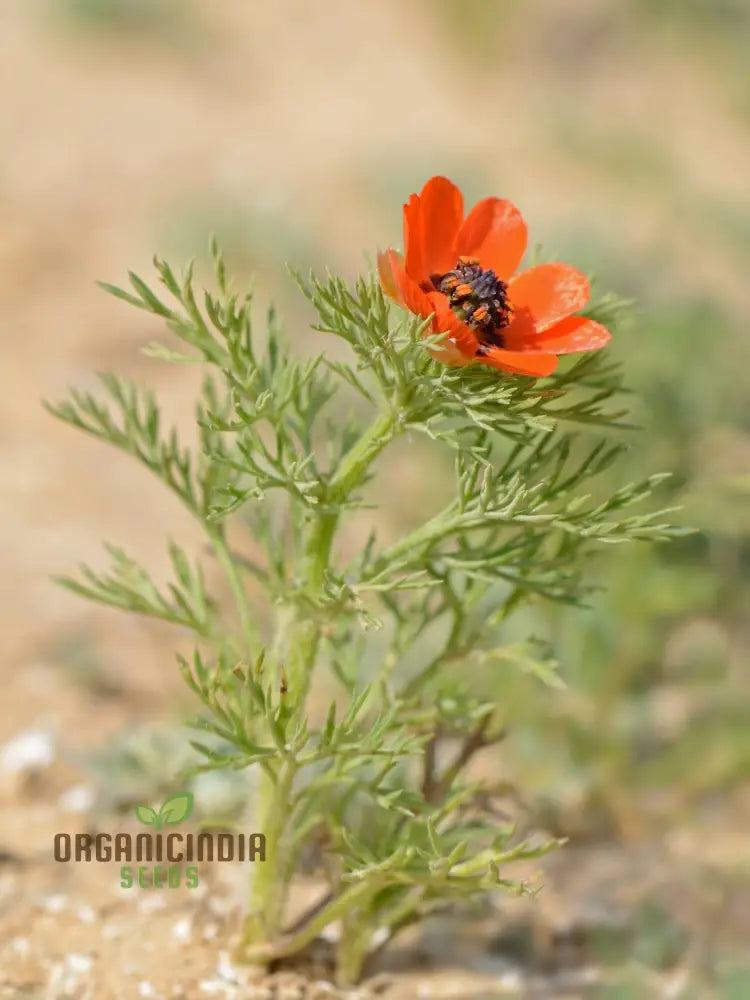
[[[200,306],[192,269],[178,279],[160,260],[167,300],[135,275],[131,290],[104,286],[162,317],[183,345],[147,353],[205,367],[197,448],[162,426],[151,393],[113,375],[101,376],[101,395],[73,391],[49,408],[179,497],[205,530],[234,613],[226,619],[201,565],[174,542],[166,589],[114,546],[108,572],[84,566],[61,582],[195,634],[192,657],[180,658],[203,705],[194,746],[205,768],[259,771],[253,822],[269,856],[253,873],[239,952],[281,959],[341,920],[337,975],[352,982],[426,914],[497,886],[524,890],[509,862],[554,845],[519,843],[488,788],[464,776],[512,723],[472,677],[511,664],[560,686],[543,650],[503,642],[507,616],[534,598],[583,601],[582,569],[600,543],[675,529],[631,511],[659,476],[596,496],[596,477],[625,447],[612,432],[628,426],[601,354],[542,382],[444,367],[425,350],[441,339],[423,339],[428,321],[392,307],[375,280],[349,288],[335,277],[297,280],[315,329],[345,341],[351,362],[296,359],[273,311],[260,350],[251,296],[231,290],[211,249],[216,290]],[[618,311],[607,299],[588,314],[611,327]],[[342,419],[339,399],[370,417]],[[380,453],[406,434],[452,457],[453,499],[390,544],[373,530],[346,562],[334,554],[337,530],[365,506]],[[249,528],[252,558],[230,548],[230,520]],[[341,691],[323,725],[308,718],[314,669]],[[289,926],[288,888],[311,844],[327,887]]]

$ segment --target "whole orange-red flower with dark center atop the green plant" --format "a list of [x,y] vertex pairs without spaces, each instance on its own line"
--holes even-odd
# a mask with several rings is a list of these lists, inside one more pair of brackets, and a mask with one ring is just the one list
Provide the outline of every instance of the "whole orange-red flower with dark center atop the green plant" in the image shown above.
[[[378,254],[383,290],[446,333],[435,356],[478,361],[521,375],[549,375],[558,354],[593,351],[610,339],[600,323],[574,315],[589,300],[584,274],[539,264],[515,274],[526,223],[502,198],[484,198],[464,218],[461,192],[432,177],[404,205],[404,254]],[[515,274],[515,276],[513,276]]]

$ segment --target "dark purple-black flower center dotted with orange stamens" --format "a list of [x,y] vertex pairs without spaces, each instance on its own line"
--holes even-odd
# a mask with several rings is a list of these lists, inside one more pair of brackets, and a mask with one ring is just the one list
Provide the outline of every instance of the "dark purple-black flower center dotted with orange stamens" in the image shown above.
[[476,332],[478,354],[485,353],[482,348],[487,345],[503,346],[500,331],[510,323],[511,306],[508,286],[494,271],[483,270],[476,257],[459,257],[452,271],[432,274],[430,281],[448,297],[459,319]]

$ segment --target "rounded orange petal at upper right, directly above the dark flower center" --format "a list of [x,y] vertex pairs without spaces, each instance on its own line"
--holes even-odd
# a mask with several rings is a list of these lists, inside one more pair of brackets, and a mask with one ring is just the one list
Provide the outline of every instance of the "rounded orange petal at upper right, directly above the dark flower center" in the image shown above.
[[456,255],[478,257],[507,281],[521,263],[528,235],[523,216],[504,198],[485,198],[469,212],[458,231]]

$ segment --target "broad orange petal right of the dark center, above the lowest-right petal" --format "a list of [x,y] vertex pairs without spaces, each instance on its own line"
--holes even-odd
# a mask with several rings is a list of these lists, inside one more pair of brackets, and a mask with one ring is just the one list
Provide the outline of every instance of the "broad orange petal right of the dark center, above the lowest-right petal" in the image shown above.
[[522,271],[508,285],[515,327],[524,336],[541,333],[589,300],[586,275],[569,264],[539,264]]

